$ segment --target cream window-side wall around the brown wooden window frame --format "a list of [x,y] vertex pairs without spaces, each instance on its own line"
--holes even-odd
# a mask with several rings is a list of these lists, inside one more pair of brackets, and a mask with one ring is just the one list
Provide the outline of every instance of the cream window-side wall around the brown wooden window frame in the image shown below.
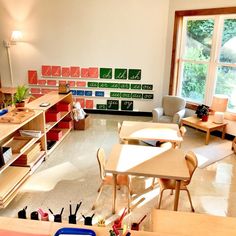
[[[170,79],[170,65],[172,55],[173,28],[175,11],[191,9],[207,9],[220,7],[235,7],[235,0],[172,0],[170,1],[167,41],[166,41],[166,62],[165,62],[165,81],[163,84],[163,93],[168,93]],[[167,82],[168,81],[168,82]],[[228,120],[227,133],[236,136],[236,122]]]

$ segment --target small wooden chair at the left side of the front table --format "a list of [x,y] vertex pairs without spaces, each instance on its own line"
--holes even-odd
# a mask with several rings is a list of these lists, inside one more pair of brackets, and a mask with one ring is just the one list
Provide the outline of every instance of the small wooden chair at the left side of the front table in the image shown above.
[[[97,160],[99,164],[99,170],[100,170],[100,178],[101,178],[101,185],[98,189],[98,196],[95,200],[95,203],[93,204],[92,210],[96,208],[97,201],[102,193],[103,187],[105,185],[113,185],[113,176],[112,175],[107,175],[105,173],[105,152],[103,148],[99,148],[97,151]],[[126,186],[128,188],[128,209],[130,209],[130,199],[131,199],[131,190],[130,190],[130,180],[128,175],[117,175],[117,185],[118,186]]]

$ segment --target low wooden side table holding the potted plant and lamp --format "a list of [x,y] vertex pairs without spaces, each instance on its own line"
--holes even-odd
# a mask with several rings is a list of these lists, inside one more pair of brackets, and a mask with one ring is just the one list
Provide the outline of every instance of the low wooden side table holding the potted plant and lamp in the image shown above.
[[206,141],[205,144],[207,145],[210,140],[210,133],[215,130],[219,130],[222,132],[222,139],[225,138],[225,130],[227,122],[223,122],[222,124],[217,124],[213,122],[213,116],[210,115],[208,121],[201,121],[197,116],[190,116],[183,118],[181,120],[181,125],[188,125],[190,127],[202,130],[206,132]]

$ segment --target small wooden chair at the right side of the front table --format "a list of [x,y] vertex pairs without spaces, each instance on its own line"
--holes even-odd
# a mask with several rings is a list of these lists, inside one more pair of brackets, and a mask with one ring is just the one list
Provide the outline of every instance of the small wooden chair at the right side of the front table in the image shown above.
[[[193,208],[193,204],[192,204],[192,200],[191,200],[191,196],[189,193],[189,190],[187,188],[187,186],[190,184],[192,176],[194,171],[196,170],[197,166],[198,166],[198,162],[197,162],[197,157],[193,152],[188,152],[185,156],[185,160],[189,169],[189,175],[190,175],[190,179],[186,180],[186,181],[181,181],[180,183],[180,190],[184,190],[187,192],[188,194],[188,199],[191,205],[191,210],[192,212],[194,212],[194,208]],[[170,189],[171,192],[173,192],[173,190],[175,190],[175,180],[174,179],[158,179],[159,182],[159,186],[160,186],[160,197],[159,197],[159,204],[158,204],[158,209],[160,209],[161,207],[161,200],[162,200],[162,196],[163,196],[163,192],[166,189]]]

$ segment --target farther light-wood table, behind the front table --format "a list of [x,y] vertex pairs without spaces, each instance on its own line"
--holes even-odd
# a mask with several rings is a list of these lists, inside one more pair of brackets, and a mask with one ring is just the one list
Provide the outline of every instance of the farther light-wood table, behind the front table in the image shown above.
[[119,135],[122,140],[156,140],[172,142],[174,146],[183,141],[179,126],[169,123],[123,121]]

